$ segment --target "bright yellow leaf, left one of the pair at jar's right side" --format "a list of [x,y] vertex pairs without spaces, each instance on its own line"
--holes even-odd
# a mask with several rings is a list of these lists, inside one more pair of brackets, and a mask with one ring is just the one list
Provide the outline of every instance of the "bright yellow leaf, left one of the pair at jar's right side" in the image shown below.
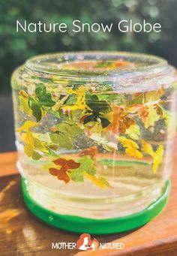
[[139,152],[139,146],[136,142],[125,137],[117,137],[117,139],[124,146],[127,155],[142,158],[142,153]]

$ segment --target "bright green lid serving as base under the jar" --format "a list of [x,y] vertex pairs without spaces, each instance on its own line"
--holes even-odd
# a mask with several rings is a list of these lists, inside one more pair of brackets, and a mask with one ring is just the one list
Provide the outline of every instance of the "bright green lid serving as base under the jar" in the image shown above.
[[22,178],[23,197],[28,209],[42,221],[54,227],[61,228],[76,233],[107,234],[120,233],[141,227],[148,221],[156,217],[166,206],[170,191],[170,181],[167,180],[163,194],[151,203],[146,209],[132,215],[119,218],[94,219],[83,218],[72,215],[59,215],[49,209],[43,208],[36,203],[28,194],[26,179]]

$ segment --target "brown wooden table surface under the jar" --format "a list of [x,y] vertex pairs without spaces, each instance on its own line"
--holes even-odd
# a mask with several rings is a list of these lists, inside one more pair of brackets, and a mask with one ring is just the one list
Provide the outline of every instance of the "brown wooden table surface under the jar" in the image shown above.
[[50,227],[26,209],[16,161],[17,152],[0,154],[0,255],[177,255],[177,150],[174,156],[172,191],[166,209],[137,230],[95,237],[99,242],[124,242],[123,250],[52,250],[52,242],[77,242],[79,235]]

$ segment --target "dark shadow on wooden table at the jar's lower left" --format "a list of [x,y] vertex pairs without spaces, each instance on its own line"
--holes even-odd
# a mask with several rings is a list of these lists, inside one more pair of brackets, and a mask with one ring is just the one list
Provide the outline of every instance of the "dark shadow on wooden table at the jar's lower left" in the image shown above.
[[[26,207],[20,184],[20,175],[2,176],[0,178],[0,248],[4,248],[5,255],[42,253],[52,254],[52,242],[77,242],[79,233],[67,232],[45,224],[36,218]],[[4,219],[5,218],[5,219]],[[109,235],[92,235],[99,242],[111,242],[126,236],[135,230]],[[5,239],[7,237],[7,239]],[[3,242],[6,241],[6,242]],[[23,241],[23,242],[22,242]],[[1,247],[2,246],[2,247]],[[74,255],[77,250],[72,250]],[[66,250],[60,250],[60,255],[66,254]]]

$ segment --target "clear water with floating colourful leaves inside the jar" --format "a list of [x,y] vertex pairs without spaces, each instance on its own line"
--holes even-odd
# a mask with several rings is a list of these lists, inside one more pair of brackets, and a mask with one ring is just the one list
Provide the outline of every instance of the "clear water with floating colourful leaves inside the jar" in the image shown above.
[[[139,65],[77,60],[62,69]],[[118,93],[106,86],[60,86],[52,77],[49,84],[37,78],[35,85],[29,81],[13,91],[19,168],[31,196],[55,212],[88,218],[131,214],[157,198],[169,176],[172,89]]]

